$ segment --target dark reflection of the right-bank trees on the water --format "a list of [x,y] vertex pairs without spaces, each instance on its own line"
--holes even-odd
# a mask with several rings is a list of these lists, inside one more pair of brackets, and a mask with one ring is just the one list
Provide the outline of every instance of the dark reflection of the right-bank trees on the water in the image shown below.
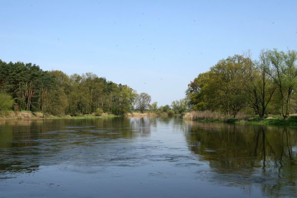
[[187,122],[191,151],[207,161],[204,179],[248,191],[258,184],[264,196],[297,195],[297,130],[290,127]]

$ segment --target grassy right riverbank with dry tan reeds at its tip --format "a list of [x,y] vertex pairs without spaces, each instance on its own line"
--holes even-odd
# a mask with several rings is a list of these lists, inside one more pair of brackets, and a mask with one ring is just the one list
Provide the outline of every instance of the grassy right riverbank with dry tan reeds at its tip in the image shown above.
[[239,115],[237,118],[226,118],[220,113],[211,111],[191,111],[184,115],[185,119],[198,122],[224,122],[231,124],[297,126],[297,115],[290,115],[287,120],[279,115],[269,115],[260,119],[257,115]]

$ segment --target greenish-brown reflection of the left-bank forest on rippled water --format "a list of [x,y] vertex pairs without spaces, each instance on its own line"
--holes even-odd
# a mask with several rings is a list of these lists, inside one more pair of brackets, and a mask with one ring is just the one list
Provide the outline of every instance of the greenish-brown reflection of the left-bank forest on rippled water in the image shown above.
[[40,165],[54,165],[70,159],[77,163],[103,163],[102,156],[108,158],[122,152],[120,143],[110,150],[105,149],[105,143],[149,136],[152,121],[121,117],[3,121],[0,123],[0,175],[31,172],[38,170]]

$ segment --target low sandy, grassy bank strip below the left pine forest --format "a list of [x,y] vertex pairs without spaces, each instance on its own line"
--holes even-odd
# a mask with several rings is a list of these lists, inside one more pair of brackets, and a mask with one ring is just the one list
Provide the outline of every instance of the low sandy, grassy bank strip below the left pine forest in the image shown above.
[[0,111],[0,120],[56,120],[56,119],[95,119],[95,118],[111,118],[118,117],[116,115],[102,113],[101,116],[96,116],[95,114],[85,114],[81,116],[71,116],[71,115],[46,115],[42,112],[31,112],[31,111]]

